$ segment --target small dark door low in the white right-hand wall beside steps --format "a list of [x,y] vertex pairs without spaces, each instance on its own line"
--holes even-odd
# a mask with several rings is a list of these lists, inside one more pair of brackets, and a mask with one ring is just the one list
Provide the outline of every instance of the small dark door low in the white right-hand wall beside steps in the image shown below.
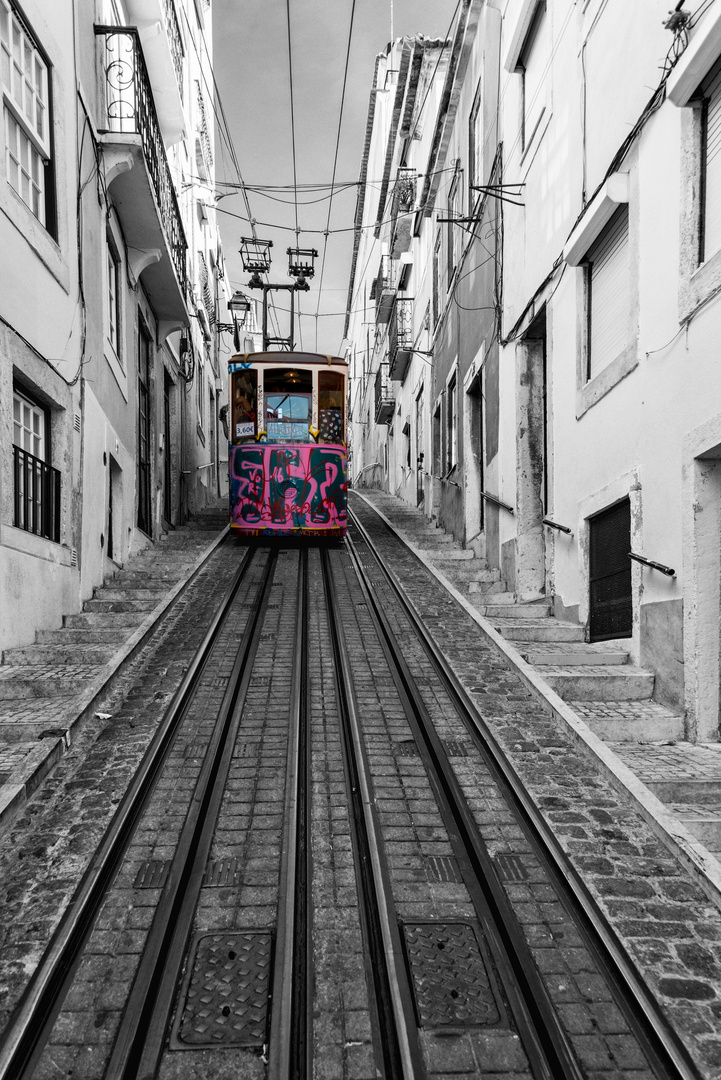
[[589,636],[591,642],[632,633],[630,502],[591,517]]

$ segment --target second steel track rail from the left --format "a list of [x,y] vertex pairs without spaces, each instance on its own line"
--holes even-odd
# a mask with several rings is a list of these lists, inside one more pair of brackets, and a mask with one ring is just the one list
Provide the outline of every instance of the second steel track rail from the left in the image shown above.
[[188,815],[125,1005],[105,1080],[157,1075],[175,993],[223,798],[235,739],[260,645],[276,553],[271,553],[237,649]]

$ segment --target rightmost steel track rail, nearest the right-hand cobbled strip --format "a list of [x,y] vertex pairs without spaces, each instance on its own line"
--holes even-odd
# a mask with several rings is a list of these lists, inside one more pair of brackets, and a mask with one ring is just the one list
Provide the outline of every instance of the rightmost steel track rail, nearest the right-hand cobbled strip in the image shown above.
[[[703,1075],[676,1031],[668,1024],[656,998],[628,955],[623,942],[620,941],[615,930],[562,849],[463,684],[450,669],[443,650],[436,644],[413,602],[407,596],[393,570],[387,567],[378,553],[363,523],[350,510],[349,515],[353,526],[358,530],[377,559],[404,612],[423,643],[425,651],[454,702],[474,744],[504,789],[508,802],[514,807],[526,835],[533,843],[536,856],[542,860],[553,880],[561,893],[566,895],[569,909],[573,914],[587,946],[596,956],[599,964],[612,977],[620,991],[617,1003],[624,1011],[637,1038],[649,1053],[657,1076],[659,1078],[679,1078],[679,1080],[703,1080]],[[399,543],[404,544],[406,550],[410,550],[392,525],[382,518],[379,518],[379,522]],[[413,552],[411,553],[422,565],[422,561]]]

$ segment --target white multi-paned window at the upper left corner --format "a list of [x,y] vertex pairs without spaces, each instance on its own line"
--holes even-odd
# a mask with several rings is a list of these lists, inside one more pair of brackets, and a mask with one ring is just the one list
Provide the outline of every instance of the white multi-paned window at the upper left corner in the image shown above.
[[10,0],[0,0],[0,78],[8,183],[50,229],[47,64]]

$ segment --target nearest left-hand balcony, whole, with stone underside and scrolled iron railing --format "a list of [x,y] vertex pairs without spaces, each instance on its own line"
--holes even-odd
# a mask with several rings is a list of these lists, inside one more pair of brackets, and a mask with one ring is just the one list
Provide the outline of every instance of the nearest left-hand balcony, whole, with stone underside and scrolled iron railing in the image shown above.
[[[188,244],[137,30],[96,27],[105,72],[106,183],[133,276],[167,326],[188,324]],[[166,326],[166,329],[167,329]]]

